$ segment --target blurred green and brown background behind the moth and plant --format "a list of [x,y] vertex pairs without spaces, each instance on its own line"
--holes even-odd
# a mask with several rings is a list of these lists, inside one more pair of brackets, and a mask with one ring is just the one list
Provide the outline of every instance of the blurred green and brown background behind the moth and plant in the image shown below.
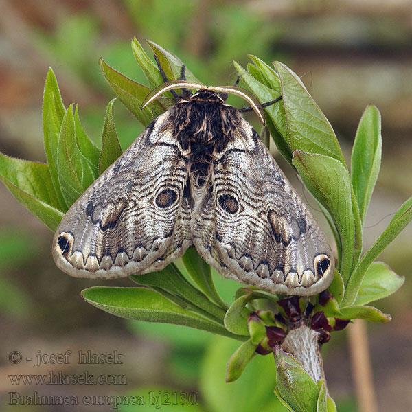
[[[0,151],[45,161],[41,102],[52,66],[65,105],[77,102],[89,136],[100,142],[104,112],[113,93],[98,67],[109,65],[145,82],[130,49],[137,37],[169,49],[205,84],[232,84],[231,60],[246,65],[247,54],[270,63],[282,60],[308,87],[339,137],[347,159],[364,108],[382,113],[382,167],[365,226],[365,247],[412,193],[412,3],[409,0],[215,1],[215,0],[2,0],[0,1]],[[148,47],[146,47],[148,51]],[[241,103],[242,104],[242,103]],[[141,126],[115,103],[117,133],[126,148]],[[258,126],[253,115],[248,119]],[[273,150],[297,190],[314,201]],[[319,214],[314,211],[316,216]],[[145,406],[123,411],[155,411],[148,393],[195,393],[196,404],[170,411],[283,411],[272,394],[271,356],[256,358],[235,383],[225,384],[225,363],[237,343],[206,332],[170,325],[133,323],[89,306],[80,290],[93,285],[132,286],[128,279],[93,282],[58,271],[50,253],[52,233],[16,203],[0,185],[0,410],[43,411],[41,406],[8,406],[10,391],[76,395],[78,407],[47,411],[110,411],[85,407],[84,395],[140,394]],[[378,302],[393,321],[368,325],[374,384],[380,411],[412,410],[412,227],[385,251],[382,260],[404,286]],[[218,290],[232,301],[237,284],[216,275]],[[12,364],[10,352],[24,360]],[[68,365],[41,365],[37,354],[71,350]],[[122,365],[78,365],[78,350],[122,354]],[[332,335],[325,374],[339,411],[356,411],[346,332]],[[32,357],[34,361],[25,361]],[[12,385],[9,374],[49,371],[98,376],[121,375],[128,385]],[[169,408],[169,409],[167,409]]]

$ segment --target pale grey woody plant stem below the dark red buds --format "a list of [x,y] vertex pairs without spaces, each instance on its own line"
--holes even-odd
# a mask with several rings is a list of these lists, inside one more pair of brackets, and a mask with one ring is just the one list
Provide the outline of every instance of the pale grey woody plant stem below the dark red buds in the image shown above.
[[311,329],[304,319],[291,326],[282,343],[283,350],[295,356],[315,382],[325,379],[319,332]]

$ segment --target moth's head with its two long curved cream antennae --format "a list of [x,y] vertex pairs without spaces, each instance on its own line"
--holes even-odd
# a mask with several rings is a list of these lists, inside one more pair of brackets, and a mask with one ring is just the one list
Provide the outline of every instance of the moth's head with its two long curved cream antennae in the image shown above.
[[242,89],[242,87],[238,86],[206,87],[203,86],[203,84],[189,82],[188,80],[170,80],[170,82],[165,82],[153,89],[142,102],[141,108],[145,108],[148,104],[160,98],[163,93],[166,93],[166,91],[173,89],[196,89],[194,95],[187,95],[187,93],[183,94],[183,98],[185,100],[191,101],[216,101],[225,103],[227,100],[227,93],[238,95],[249,103],[253,111],[258,115],[260,121],[264,124],[263,108],[258,98],[256,98],[256,96],[250,91]]

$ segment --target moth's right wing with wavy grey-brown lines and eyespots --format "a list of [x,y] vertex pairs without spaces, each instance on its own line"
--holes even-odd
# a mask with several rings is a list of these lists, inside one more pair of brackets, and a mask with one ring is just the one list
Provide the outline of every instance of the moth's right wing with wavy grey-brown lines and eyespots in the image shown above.
[[222,275],[271,293],[314,295],[334,275],[323,232],[242,119],[192,214],[194,244]]

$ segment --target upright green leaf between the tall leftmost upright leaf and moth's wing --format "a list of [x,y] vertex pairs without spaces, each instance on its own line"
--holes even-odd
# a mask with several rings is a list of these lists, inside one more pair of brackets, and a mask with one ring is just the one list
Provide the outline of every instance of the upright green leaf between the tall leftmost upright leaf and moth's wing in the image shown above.
[[[82,130],[76,125],[73,116],[73,105],[67,108],[62,120],[62,127],[58,137],[57,172],[60,189],[66,205],[70,207],[84,192],[84,190],[98,177],[98,165],[91,163],[80,150],[78,141],[84,135],[76,133]],[[85,139],[88,139],[86,136]]]

